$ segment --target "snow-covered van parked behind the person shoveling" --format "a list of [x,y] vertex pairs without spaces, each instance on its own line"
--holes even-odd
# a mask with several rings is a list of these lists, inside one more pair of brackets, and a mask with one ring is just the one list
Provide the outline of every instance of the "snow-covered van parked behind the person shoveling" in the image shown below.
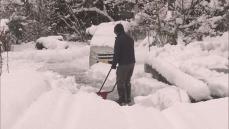
[[128,30],[129,22],[127,21],[101,23],[96,27],[93,26],[92,30],[88,30],[93,32],[90,42],[90,66],[98,62],[108,63],[113,60],[113,48],[116,37],[114,27],[118,23],[123,24],[125,30]]

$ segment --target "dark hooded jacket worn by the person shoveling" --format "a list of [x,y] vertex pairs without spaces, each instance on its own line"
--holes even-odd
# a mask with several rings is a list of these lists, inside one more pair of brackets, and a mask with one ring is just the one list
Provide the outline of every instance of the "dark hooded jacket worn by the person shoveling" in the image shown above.
[[[117,26],[116,26],[117,27]],[[112,65],[128,65],[135,63],[134,40],[122,29],[115,28],[117,35],[114,45],[114,57]]]

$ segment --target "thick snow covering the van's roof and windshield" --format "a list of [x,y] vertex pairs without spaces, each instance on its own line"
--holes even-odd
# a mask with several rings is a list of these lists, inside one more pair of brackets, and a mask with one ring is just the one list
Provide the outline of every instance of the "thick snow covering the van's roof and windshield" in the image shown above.
[[96,27],[96,30],[93,27],[92,33],[94,32],[94,35],[91,39],[91,45],[92,46],[108,46],[108,47],[114,47],[115,37],[114,34],[114,27],[116,24],[121,23],[124,26],[125,31],[129,29],[129,22],[127,21],[117,21],[117,22],[108,22],[108,23],[101,23]]

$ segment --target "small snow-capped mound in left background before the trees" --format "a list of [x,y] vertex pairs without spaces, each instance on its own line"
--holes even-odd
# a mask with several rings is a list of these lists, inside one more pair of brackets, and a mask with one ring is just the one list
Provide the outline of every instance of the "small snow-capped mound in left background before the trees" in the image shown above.
[[42,44],[47,49],[67,49],[68,43],[63,41],[62,36],[41,37],[36,40],[36,43]]

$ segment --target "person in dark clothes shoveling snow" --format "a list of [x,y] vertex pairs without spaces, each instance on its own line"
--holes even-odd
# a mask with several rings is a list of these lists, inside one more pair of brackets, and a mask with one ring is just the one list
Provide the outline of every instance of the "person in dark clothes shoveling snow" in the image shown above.
[[134,40],[125,33],[122,24],[114,27],[114,33],[117,35],[114,45],[114,57],[112,69],[116,69],[116,82],[120,105],[131,102],[131,76],[135,65]]

